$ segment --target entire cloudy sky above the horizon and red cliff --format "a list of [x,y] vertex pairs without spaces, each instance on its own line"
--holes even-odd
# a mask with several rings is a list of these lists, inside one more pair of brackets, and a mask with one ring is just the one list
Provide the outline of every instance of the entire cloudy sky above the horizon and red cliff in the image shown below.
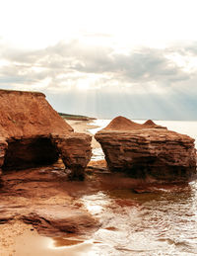
[[0,0],[0,89],[63,113],[197,120],[196,0]]

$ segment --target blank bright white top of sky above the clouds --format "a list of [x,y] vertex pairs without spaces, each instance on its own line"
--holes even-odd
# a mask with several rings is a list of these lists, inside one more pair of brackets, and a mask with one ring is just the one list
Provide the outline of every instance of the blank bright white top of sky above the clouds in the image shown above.
[[161,45],[197,39],[196,9],[194,0],[8,0],[1,2],[0,33],[4,40],[28,47],[83,35],[102,35],[105,42],[119,46]]

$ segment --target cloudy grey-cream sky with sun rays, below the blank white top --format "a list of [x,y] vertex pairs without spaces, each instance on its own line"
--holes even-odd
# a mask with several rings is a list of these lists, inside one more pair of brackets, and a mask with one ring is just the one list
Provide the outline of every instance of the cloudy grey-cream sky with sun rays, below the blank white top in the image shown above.
[[195,119],[197,45],[116,48],[59,42],[32,50],[0,42],[0,87],[38,90],[60,112]]

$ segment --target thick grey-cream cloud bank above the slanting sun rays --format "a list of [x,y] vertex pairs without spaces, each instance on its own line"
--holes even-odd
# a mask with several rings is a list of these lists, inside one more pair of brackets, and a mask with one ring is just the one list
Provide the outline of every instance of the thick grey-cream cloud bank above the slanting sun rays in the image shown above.
[[[25,84],[50,90],[76,89],[90,83],[89,89],[108,87],[158,88],[189,81],[195,72],[185,71],[170,54],[195,54],[196,44],[170,48],[138,47],[118,52],[115,48],[71,41],[29,50],[1,45],[0,83]],[[196,51],[197,53],[197,51]],[[195,70],[196,71],[196,70]]]

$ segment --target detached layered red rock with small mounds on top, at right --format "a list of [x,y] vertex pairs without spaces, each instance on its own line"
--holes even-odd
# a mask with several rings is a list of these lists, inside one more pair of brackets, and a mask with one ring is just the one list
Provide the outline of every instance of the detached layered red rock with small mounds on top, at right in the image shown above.
[[152,121],[139,125],[118,117],[96,139],[111,171],[161,182],[182,182],[196,175],[194,139]]

